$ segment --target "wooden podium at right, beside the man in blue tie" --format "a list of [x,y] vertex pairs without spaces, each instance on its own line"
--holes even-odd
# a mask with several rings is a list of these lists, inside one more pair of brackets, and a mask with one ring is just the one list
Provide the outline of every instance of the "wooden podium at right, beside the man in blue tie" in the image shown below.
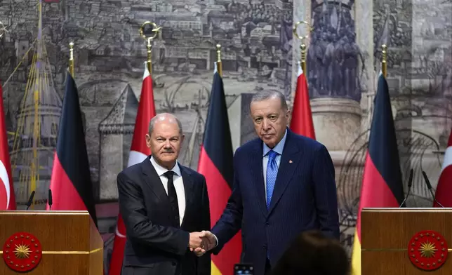
[[[450,275],[450,248],[452,208],[364,208],[361,212],[362,275]],[[442,265],[435,270],[424,270],[438,264]]]

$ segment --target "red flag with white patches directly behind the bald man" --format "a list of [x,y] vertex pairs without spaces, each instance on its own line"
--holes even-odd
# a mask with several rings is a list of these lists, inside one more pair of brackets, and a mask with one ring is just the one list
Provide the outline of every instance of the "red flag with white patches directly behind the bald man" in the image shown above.
[[[148,132],[149,121],[155,116],[154,93],[152,91],[152,76],[147,65],[143,75],[140,103],[133,130],[131,152],[128,155],[127,166],[133,166],[146,159],[151,150],[146,146],[145,135]],[[112,258],[110,260],[109,275],[121,275],[124,247],[126,246],[126,226],[121,214],[118,215],[116,235],[114,236]]]

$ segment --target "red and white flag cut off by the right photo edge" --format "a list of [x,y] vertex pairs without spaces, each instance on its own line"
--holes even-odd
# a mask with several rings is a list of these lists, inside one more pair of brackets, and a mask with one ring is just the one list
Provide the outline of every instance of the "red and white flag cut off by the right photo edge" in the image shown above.
[[[447,142],[446,153],[444,154],[443,166],[441,168],[441,175],[439,175],[437,191],[434,198],[437,199],[444,207],[452,207],[452,132],[449,135]],[[433,207],[439,207],[439,204],[434,201]]]

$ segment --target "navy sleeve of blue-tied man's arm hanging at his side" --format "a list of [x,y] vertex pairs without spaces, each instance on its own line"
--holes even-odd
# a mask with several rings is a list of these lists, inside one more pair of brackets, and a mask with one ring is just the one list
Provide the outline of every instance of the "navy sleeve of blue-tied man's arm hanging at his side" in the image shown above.
[[320,230],[326,236],[339,239],[338,196],[333,161],[324,145],[315,154],[312,179]]

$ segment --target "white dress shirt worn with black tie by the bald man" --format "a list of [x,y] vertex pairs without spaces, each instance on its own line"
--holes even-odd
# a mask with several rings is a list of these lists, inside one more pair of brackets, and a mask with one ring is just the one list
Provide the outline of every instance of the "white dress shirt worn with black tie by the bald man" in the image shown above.
[[[168,169],[162,167],[155,161],[154,157],[151,156],[151,163],[154,166],[154,169],[159,175],[162,185],[164,185],[164,189],[166,194],[168,195],[168,178],[164,175],[164,173],[168,172]],[[173,176],[173,183],[175,188],[175,194],[178,196],[178,206],[179,206],[179,224],[182,225],[182,220],[184,220],[185,215],[185,188],[184,182],[182,181],[182,174],[180,173],[180,168],[178,162],[176,161],[175,166],[171,169],[175,173]]]

